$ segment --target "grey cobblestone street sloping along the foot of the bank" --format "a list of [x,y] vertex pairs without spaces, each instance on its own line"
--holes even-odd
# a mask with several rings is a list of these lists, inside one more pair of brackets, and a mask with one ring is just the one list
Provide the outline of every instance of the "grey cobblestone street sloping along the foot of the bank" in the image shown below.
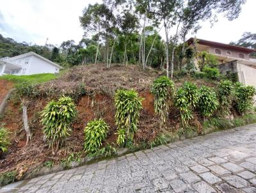
[[256,125],[248,125],[19,181],[0,192],[256,192],[255,174]]

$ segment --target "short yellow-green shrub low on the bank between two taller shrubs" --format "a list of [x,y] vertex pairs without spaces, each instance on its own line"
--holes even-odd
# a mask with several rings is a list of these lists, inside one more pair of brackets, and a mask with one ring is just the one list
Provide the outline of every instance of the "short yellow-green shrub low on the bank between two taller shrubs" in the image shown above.
[[88,122],[84,128],[84,150],[88,153],[99,151],[108,130],[108,124],[102,119]]

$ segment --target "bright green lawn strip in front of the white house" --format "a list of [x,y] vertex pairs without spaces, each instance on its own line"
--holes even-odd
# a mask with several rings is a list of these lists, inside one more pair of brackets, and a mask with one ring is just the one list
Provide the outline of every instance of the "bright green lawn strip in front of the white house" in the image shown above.
[[56,79],[57,75],[54,73],[38,73],[33,75],[3,75],[0,77],[6,81],[14,82],[15,85],[19,85],[22,82],[29,82],[31,84],[38,84],[42,82],[51,81]]

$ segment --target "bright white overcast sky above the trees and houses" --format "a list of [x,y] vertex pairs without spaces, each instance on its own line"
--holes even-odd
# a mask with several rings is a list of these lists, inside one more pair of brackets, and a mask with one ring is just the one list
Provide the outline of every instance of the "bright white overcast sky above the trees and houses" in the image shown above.
[[[17,42],[60,45],[66,40],[76,43],[83,37],[79,16],[88,4],[100,0],[0,0],[0,34]],[[215,42],[237,41],[245,31],[256,33],[256,0],[247,0],[239,18],[228,21],[222,15],[213,27],[203,22],[196,38]],[[161,35],[164,37],[163,32]]]

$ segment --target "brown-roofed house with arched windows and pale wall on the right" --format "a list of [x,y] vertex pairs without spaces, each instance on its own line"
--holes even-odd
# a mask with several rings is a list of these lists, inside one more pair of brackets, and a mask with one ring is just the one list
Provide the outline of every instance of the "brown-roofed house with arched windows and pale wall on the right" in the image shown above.
[[187,42],[189,46],[196,45],[198,52],[216,56],[221,73],[237,73],[239,82],[256,86],[256,59],[250,57],[256,50],[197,38],[189,38]]

